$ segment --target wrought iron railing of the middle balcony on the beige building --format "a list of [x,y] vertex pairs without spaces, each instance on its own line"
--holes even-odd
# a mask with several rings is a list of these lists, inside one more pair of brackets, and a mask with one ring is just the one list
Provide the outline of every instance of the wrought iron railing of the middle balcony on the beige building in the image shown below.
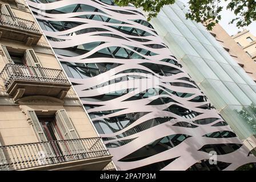
[[6,64],[0,76],[3,78],[6,89],[15,80],[69,84],[69,80],[61,69],[32,67],[19,64]]

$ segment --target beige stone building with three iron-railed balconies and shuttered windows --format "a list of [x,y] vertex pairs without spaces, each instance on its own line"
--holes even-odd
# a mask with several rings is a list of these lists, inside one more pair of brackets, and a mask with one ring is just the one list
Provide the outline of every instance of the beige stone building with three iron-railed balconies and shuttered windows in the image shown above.
[[112,156],[29,7],[0,1],[0,10],[0,171],[109,169]]

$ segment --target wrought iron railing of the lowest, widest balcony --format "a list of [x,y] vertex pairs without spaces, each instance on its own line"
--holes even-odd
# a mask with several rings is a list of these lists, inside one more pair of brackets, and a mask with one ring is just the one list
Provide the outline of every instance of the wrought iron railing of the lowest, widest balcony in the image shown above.
[[83,138],[0,146],[0,171],[111,156],[102,139]]

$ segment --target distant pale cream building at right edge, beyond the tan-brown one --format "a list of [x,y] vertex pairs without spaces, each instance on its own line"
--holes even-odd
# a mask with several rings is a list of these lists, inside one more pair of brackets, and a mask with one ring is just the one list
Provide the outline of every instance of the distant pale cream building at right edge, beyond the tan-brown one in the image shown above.
[[256,37],[249,30],[245,29],[232,35],[232,38],[256,62]]

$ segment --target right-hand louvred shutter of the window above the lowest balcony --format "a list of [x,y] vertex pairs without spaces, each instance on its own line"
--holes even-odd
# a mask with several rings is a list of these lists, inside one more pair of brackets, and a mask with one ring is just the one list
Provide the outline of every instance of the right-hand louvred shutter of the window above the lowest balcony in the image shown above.
[[[55,119],[65,139],[79,139],[77,131],[75,131],[73,123],[67,116],[65,109],[58,110],[55,114]],[[79,140],[75,140],[74,142],[67,142],[67,144],[70,147],[70,152],[75,154],[85,154],[86,152],[82,142]]]

